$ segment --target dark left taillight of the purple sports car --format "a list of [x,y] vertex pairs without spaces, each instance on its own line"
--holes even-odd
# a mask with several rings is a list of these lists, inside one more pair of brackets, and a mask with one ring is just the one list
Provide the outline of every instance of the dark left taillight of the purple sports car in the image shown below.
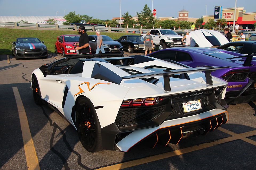
[[227,81],[243,81],[247,77],[249,70],[232,70],[224,74],[222,78]]

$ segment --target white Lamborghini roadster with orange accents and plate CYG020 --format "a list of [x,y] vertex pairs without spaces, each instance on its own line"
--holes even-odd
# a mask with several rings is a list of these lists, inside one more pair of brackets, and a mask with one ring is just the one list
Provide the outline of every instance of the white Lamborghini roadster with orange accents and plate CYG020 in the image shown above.
[[226,123],[227,82],[210,73],[221,68],[84,54],[35,69],[31,85],[35,103],[65,117],[87,151],[128,151],[141,141],[177,144]]

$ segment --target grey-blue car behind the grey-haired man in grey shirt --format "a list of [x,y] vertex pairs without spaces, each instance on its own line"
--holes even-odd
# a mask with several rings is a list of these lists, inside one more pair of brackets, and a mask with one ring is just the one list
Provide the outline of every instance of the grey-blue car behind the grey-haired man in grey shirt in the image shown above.
[[[106,53],[121,53],[123,52],[123,46],[121,43],[114,41],[109,36],[102,35],[102,45]],[[97,35],[89,35],[89,44],[91,46],[92,53],[96,52],[97,48]],[[100,51],[101,53],[101,51]]]

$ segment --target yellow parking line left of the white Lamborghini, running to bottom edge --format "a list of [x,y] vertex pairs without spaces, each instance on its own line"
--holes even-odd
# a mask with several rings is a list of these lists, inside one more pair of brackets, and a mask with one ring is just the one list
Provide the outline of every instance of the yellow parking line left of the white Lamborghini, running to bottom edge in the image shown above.
[[23,107],[21,96],[19,95],[19,91],[17,87],[13,87],[13,93],[15,96],[18,113],[19,113],[19,121],[21,124],[21,132],[22,132],[24,150],[25,150],[25,155],[27,160],[27,169],[40,170],[37,154],[35,152],[34,143],[31,137],[30,129],[29,129],[29,123],[27,121],[27,115]]

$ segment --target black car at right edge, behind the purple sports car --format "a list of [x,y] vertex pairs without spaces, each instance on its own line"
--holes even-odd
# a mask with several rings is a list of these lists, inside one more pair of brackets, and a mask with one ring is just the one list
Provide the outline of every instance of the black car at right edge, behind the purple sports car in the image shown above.
[[216,48],[241,54],[256,53],[256,41],[235,41]]

